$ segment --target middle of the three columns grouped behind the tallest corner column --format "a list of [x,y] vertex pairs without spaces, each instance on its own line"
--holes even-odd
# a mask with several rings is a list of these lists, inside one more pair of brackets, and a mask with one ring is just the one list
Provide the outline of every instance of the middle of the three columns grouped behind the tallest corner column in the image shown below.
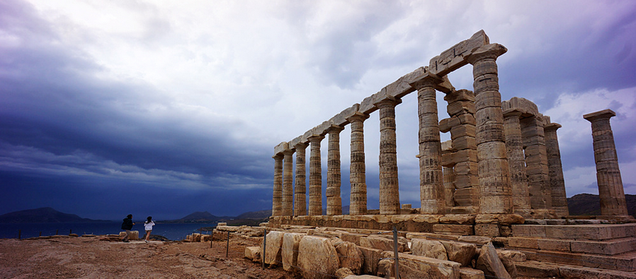
[[526,174],[532,209],[552,209],[550,170],[547,166],[543,118],[533,116],[520,121],[526,155]]

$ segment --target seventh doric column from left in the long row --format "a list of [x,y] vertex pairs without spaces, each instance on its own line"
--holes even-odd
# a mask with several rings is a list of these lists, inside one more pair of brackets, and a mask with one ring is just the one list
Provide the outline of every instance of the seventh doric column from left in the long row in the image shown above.
[[391,96],[377,102],[380,110],[380,214],[399,214],[395,106],[402,102]]

